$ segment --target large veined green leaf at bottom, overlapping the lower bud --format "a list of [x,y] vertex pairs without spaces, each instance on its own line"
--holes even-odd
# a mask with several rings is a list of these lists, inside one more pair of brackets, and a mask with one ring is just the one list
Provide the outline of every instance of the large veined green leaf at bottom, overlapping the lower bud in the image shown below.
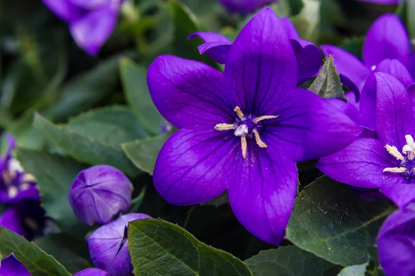
[[129,223],[128,240],[136,276],[252,275],[241,260],[199,242],[167,221],[133,221]]

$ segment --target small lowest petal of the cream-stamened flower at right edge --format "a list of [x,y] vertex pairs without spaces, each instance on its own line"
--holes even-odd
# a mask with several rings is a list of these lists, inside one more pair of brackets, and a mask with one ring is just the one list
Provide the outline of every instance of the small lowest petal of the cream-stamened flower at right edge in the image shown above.
[[415,185],[412,183],[386,186],[380,189],[380,193],[389,197],[399,208],[405,208],[415,200]]

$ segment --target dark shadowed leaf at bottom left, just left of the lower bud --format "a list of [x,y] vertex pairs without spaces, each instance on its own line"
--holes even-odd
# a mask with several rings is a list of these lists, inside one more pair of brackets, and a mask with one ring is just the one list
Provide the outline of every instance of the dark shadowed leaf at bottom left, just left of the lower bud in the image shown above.
[[92,267],[89,262],[88,244],[62,234],[50,234],[36,240],[37,246],[52,255],[69,273]]

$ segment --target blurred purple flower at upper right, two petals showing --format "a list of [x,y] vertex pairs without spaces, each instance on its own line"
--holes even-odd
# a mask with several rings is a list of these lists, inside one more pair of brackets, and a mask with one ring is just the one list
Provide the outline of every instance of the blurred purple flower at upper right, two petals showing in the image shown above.
[[374,21],[363,45],[363,61],[336,46],[322,45],[321,48],[324,55],[333,55],[342,82],[355,92],[362,91],[369,73],[384,59],[397,59],[408,68],[412,66],[409,63],[409,37],[396,14],[384,14]]

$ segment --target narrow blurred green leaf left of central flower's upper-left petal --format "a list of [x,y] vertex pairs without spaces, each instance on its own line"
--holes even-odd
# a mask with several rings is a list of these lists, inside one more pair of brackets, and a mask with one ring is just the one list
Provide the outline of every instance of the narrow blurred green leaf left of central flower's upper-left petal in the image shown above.
[[150,97],[147,88],[147,69],[133,63],[131,59],[123,58],[120,61],[120,74],[129,106],[133,108],[138,119],[149,132],[159,134],[160,122],[164,119]]

